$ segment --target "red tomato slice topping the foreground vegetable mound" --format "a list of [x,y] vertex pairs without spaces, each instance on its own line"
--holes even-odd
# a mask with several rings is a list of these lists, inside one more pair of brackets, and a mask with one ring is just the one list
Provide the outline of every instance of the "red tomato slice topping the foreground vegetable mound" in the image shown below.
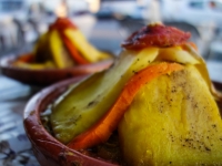
[[182,45],[190,39],[190,32],[160,23],[149,24],[132,33],[122,46],[128,50],[142,50],[149,46],[170,48]]

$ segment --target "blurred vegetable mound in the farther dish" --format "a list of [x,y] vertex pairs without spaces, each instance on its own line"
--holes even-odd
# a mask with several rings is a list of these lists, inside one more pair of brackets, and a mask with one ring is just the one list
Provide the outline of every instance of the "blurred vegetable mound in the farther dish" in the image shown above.
[[68,18],[58,18],[34,45],[32,53],[18,58],[16,66],[27,69],[65,69],[95,63],[112,55],[88,42]]

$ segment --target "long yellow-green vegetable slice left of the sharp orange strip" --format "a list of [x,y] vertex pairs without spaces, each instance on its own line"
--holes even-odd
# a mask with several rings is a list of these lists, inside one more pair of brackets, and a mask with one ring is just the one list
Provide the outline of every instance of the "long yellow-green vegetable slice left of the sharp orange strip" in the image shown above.
[[138,55],[124,52],[109,71],[97,73],[74,86],[53,107],[51,124],[54,136],[62,143],[69,143],[88,129],[112,106],[125,82],[157,55],[155,48],[143,50]]

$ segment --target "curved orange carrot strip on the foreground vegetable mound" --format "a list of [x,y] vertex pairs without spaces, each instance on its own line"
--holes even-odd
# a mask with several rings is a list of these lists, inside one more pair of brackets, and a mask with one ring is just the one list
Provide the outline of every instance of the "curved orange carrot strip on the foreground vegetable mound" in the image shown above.
[[110,137],[112,132],[118,127],[119,122],[132,103],[137,92],[143,85],[160,75],[182,69],[183,66],[178,63],[162,62],[141,70],[129,80],[109,112],[107,112],[107,114],[91,128],[74,137],[68,144],[68,146],[73,149],[83,149],[100,143],[104,143]]

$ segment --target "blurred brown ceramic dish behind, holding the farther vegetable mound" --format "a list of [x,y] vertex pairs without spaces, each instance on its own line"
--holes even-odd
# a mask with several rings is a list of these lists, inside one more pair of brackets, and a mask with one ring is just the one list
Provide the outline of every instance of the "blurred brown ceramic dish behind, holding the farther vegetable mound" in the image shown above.
[[12,65],[17,59],[17,55],[2,58],[0,60],[1,73],[21,83],[40,86],[47,86],[70,77],[99,72],[108,69],[113,63],[113,60],[105,60],[69,69],[28,70]]

